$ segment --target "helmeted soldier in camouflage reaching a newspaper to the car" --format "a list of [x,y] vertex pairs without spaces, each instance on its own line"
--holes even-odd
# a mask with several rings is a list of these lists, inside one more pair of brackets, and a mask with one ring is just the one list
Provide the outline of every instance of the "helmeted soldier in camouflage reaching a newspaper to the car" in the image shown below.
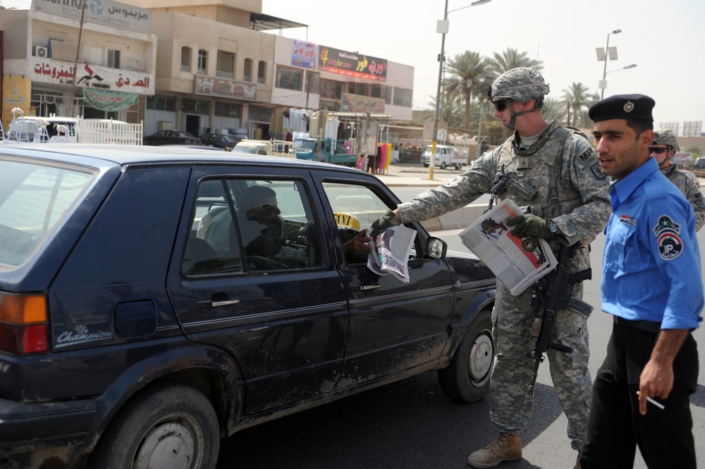
[[[546,238],[553,252],[558,252],[561,244],[580,243],[568,267],[570,272],[589,267],[588,245],[604,229],[611,211],[608,179],[584,134],[562,128],[556,120],[544,121],[541,108],[546,94],[544,78],[531,68],[513,68],[500,75],[489,88],[488,99],[495,106],[494,116],[514,130],[513,135],[454,181],[427,190],[385,214],[374,222],[372,232],[391,224],[438,217],[467,205],[490,193],[495,176],[511,171],[517,183],[508,184],[500,197],[524,206],[526,213],[508,221],[514,226],[513,233]],[[575,285],[574,295],[582,297],[582,284]],[[497,354],[489,397],[490,418],[499,437],[470,455],[467,462],[475,468],[491,468],[522,457],[520,434],[533,405],[529,384],[534,360],[526,353],[534,347],[532,328],[540,312],[531,303],[530,288],[512,296],[498,282],[492,312]],[[557,312],[556,336],[557,343],[573,350],[549,350],[547,354],[551,377],[568,417],[571,446],[580,451],[591,401],[585,319],[565,310]]]

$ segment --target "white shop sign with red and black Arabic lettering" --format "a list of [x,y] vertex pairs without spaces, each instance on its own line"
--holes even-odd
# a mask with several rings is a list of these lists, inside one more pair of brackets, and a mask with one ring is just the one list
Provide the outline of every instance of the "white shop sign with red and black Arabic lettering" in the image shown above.
[[[42,59],[35,62],[35,66],[28,76],[36,82],[73,85],[73,63]],[[154,85],[149,74],[88,65],[87,63],[78,64],[76,86],[154,95]]]

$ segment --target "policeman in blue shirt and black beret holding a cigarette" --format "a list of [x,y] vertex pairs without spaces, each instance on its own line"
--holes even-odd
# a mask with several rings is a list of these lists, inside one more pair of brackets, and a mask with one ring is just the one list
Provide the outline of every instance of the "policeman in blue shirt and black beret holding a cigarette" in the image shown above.
[[613,315],[607,357],[593,386],[582,468],[695,469],[689,395],[698,374],[690,334],[702,320],[695,215],[649,157],[644,95],[589,109],[601,171],[613,177],[602,272],[602,310]]

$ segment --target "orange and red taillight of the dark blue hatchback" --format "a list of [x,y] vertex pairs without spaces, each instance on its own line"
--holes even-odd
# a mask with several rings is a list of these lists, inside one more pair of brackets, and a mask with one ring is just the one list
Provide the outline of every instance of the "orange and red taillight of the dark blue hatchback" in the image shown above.
[[46,352],[47,331],[44,296],[0,293],[0,351],[16,355]]

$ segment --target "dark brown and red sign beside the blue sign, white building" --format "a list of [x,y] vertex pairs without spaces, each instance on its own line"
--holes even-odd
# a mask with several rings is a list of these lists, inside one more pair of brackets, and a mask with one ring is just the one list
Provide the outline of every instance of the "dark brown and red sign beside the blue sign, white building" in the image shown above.
[[327,46],[318,47],[318,69],[353,78],[387,80],[387,61],[385,59],[341,51]]

